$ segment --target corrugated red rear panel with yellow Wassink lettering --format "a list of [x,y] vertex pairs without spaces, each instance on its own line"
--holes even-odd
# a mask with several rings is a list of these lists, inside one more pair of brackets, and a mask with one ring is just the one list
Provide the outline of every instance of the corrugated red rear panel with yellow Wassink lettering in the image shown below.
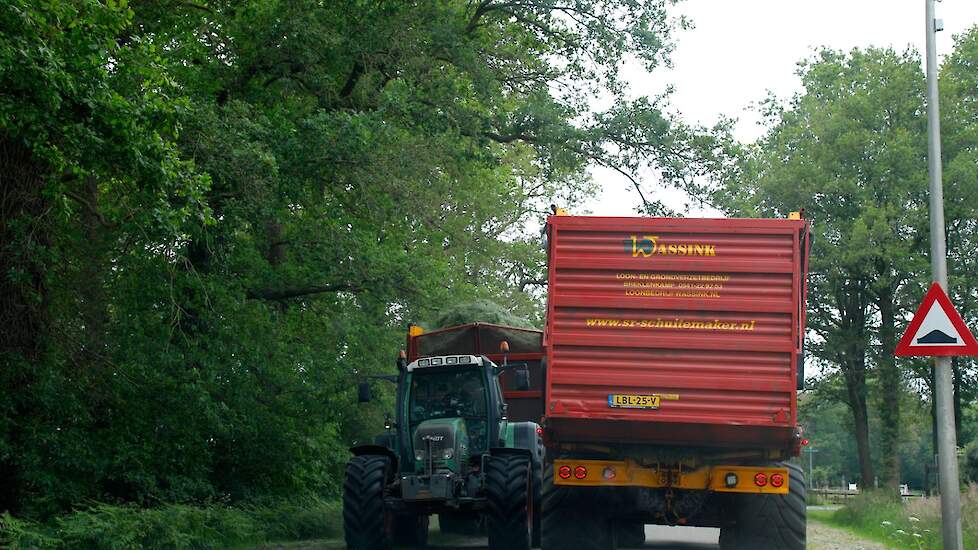
[[[555,216],[548,234],[556,437],[791,444],[805,221]],[[613,408],[612,394],[661,401]]]

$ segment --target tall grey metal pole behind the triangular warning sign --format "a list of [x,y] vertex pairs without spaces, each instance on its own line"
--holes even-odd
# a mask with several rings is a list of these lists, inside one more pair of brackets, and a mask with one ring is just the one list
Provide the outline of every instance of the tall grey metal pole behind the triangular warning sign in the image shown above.
[[[937,88],[937,31],[934,0],[927,3],[927,144],[930,173],[930,256],[934,281],[947,290],[947,244],[944,237],[944,189],[941,183],[941,113]],[[937,454],[941,481],[941,518],[945,550],[964,550],[961,537],[961,492],[954,434],[954,381],[951,360],[934,361],[937,403]]]

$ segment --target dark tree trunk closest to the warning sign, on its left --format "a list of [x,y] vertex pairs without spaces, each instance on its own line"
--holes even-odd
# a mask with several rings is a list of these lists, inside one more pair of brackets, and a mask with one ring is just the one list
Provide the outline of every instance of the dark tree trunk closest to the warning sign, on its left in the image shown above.
[[887,288],[879,293],[880,310],[879,357],[880,377],[880,462],[883,484],[889,489],[900,488],[900,370],[893,351],[896,349],[896,316],[894,292]]

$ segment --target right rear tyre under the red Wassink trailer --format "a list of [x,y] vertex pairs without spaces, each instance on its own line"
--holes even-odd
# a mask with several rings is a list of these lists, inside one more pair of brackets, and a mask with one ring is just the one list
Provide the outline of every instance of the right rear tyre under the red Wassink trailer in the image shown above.
[[804,550],[807,528],[805,476],[788,469],[787,495],[737,495],[736,524],[720,529],[722,550]]

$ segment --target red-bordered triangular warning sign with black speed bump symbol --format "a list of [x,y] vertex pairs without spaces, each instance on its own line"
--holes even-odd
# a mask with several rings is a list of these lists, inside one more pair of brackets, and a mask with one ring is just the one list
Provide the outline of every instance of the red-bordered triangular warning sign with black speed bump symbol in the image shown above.
[[934,283],[893,354],[898,357],[978,355],[978,341],[941,285]]

